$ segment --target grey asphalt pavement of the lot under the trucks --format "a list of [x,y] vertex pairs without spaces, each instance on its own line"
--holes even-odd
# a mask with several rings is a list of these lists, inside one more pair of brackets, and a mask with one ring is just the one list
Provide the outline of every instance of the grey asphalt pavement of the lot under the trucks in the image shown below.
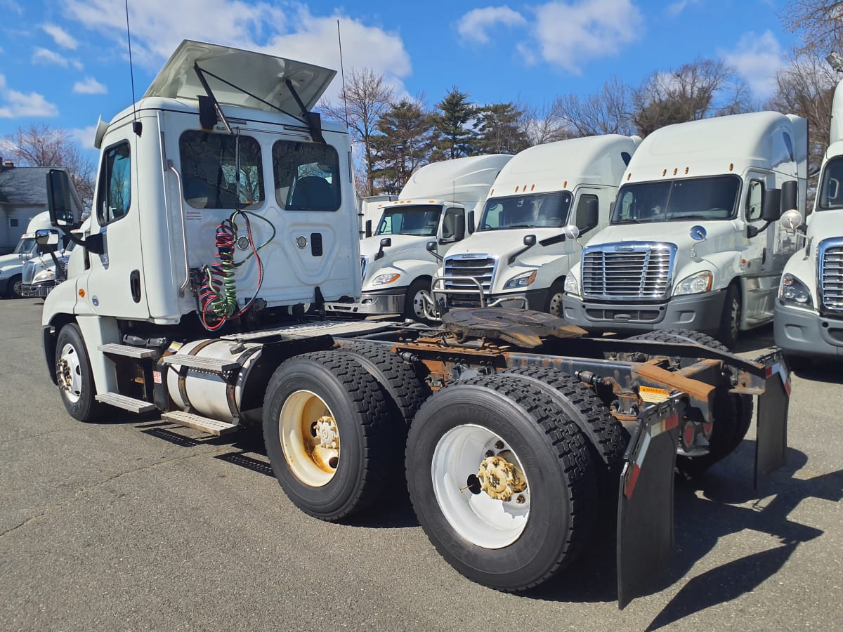
[[400,481],[365,516],[319,522],[287,501],[259,437],[116,409],[72,420],[41,304],[0,300],[0,629],[843,627],[843,364],[794,373],[787,465],[760,490],[754,429],[701,482],[677,481],[672,573],[621,612],[607,534],[557,581],[503,594],[438,556]]

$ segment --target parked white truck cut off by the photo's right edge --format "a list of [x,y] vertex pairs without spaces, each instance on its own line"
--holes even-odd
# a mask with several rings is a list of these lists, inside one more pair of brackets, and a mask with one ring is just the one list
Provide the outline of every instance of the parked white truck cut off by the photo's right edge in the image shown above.
[[829,140],[813,214],[781,217],[783,230],[798,229],[799,249],[781,275],[773,327],[776,345],[796,362],[843,358],[843,82]]

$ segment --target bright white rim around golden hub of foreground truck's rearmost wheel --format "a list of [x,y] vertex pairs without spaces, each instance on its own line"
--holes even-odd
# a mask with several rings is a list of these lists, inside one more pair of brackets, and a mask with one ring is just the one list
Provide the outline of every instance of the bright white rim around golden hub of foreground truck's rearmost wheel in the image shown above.
[[433,451],[433,493],[443,516],[460,536],[484,549],[513,544],[524,533],[529,519],[529,483],[509,501],[495,500],[483,491],[475,494],[466,487],[483,459],[502,450],[518,461],[502,437],[483,426],[465,424],[446,432]]

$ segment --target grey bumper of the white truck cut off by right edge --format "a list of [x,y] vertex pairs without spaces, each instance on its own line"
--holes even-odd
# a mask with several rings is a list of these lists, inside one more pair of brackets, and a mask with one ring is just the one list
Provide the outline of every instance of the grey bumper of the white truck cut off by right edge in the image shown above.
[[776,346],[792,356],[843,357],[843,319],[786,308],[776,301]]

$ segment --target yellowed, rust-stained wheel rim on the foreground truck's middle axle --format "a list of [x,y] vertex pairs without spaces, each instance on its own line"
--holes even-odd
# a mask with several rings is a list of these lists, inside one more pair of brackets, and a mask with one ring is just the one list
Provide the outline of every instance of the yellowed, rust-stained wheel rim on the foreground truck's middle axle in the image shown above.
[[328,404],[311,391],[290,395],[278,415],[281,448],[290,471],[304,485],[327,485],[340,461],[340,433]]

